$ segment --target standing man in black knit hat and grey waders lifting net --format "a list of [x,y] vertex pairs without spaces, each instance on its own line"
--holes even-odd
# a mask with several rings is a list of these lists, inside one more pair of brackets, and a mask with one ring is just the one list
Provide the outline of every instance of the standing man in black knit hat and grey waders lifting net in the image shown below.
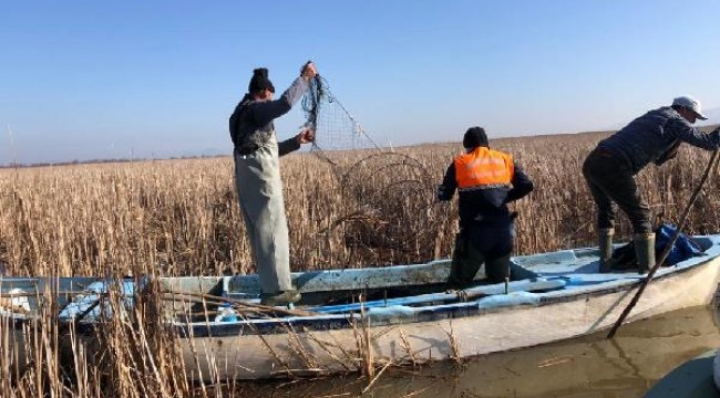
[[256,69],[245,94],[229,119],[235,149],[235,185],[253,260],[260,277],[260,302],[286,305],[300,300],[290,283],[290,249],[282,199],[279,157],[313,139],[306,129],[278,144],[272,121],[290,111],[310,88],[317,75],[311,62],[305,64],[280,98],[267,69]]

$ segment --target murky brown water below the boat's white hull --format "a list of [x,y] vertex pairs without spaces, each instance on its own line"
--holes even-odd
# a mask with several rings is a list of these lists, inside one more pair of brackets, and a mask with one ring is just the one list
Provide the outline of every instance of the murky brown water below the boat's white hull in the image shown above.
[[253,397],[639,397],[687,359],[720,346],[716,310],[676,311],[605,333],[511,353],[460,366],[388,369],[362,395],[368,379],[243,383],[233,392]]

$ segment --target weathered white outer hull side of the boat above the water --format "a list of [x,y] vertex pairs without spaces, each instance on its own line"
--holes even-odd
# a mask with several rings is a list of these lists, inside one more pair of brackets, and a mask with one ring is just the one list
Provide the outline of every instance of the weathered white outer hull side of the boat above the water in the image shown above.
[[[627,322],[706,305],[720,279],[720,260],[661,275],[648,284]],[[537,305],[497,307],[479,316],[389,326],[266,335],[182,338],[192,378],[257,379],[362,370],[369,364],[461,359],[606,331],[637,291],[616,286],[576,296],[547,296]],[[370,344],[366,344],[369,338]]]

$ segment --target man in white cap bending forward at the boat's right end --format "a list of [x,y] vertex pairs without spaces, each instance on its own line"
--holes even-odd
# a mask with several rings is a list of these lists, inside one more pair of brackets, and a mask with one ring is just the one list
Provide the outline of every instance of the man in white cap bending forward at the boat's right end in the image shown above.
[[603,139],[588,155],[583,175],[597,205],[600,272],[613,270],[615,212],[619,206],[632,224],[632,242],[639,273],[655,266],[655,233],[650,208],[642,201],[634,176],[650,161],[662,165],[673,158],[680,143],[713,150],[720,129],[706,134],[692,124],[704,121],[700,102],[680,96],[671,106],[650,111],[619,132]]

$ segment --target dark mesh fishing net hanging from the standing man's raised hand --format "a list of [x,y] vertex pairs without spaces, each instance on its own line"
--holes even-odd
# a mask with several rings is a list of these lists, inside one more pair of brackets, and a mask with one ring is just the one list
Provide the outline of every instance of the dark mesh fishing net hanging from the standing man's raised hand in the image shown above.
[[380,147],[317,76],[302,100],[311,153],[331,165],[346,212],[326,231],[341,229],[346,247],[436,252],[445,207],[436,207],[435,182],[410,155]]

